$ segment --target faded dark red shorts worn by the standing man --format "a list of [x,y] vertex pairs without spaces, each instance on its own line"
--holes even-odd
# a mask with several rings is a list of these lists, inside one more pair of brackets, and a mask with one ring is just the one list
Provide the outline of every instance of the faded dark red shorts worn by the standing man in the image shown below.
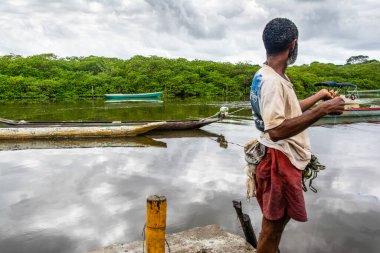
[[302,171],[281,151],[266,148],[256,166],[256,187],[256,198],[266,219],[279,220],[287,215],[296,221],[307,221]]

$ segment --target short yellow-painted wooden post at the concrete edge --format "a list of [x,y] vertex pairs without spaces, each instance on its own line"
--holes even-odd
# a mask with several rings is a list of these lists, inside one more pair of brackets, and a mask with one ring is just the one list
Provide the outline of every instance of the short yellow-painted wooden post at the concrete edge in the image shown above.
[[146,201],[145,243],[147,253],[165,253],[166,198],[151,195]]

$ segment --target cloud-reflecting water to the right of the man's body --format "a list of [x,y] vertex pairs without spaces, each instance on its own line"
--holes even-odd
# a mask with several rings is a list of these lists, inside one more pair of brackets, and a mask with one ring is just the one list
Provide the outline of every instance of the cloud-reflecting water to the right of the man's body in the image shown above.
[[309,222],[291,223],[282,246],[289,252],[379,252],[380,128],[318,127],[310,134],[327,170],[316,180],[319,193],[306,194]]

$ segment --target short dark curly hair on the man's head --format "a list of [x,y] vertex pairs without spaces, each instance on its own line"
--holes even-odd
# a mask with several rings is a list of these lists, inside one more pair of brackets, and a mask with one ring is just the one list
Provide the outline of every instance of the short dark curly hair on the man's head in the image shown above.
[[272,19],[264,28],[263,41],[268,55],[275,55],[289,48],[298,38],[297,26],[287,18]]

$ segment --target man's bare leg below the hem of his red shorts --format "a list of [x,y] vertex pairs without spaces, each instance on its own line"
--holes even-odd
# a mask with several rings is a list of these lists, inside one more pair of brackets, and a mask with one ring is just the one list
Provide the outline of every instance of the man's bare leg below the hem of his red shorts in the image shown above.
[[263,217],[256,253],[277,253],[282,232],[289,220],[288,216],[275,221]]

